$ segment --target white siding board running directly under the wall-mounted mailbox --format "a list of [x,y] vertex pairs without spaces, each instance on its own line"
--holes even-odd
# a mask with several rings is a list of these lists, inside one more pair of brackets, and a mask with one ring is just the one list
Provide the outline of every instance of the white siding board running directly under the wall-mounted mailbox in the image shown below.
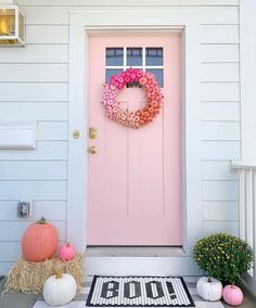
[[[63,161],[67,159],[66,141],[37,141],[36,150],[0,151],[0,161]],[[0,196],[1,198],[1,196]]]

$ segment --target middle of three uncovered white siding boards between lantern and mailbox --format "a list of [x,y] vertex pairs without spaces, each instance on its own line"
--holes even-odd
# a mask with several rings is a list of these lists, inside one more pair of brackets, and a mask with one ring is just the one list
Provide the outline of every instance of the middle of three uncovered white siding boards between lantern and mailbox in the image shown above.
[[0,101],[67,101],[67,84],[12,82],[0,84]]

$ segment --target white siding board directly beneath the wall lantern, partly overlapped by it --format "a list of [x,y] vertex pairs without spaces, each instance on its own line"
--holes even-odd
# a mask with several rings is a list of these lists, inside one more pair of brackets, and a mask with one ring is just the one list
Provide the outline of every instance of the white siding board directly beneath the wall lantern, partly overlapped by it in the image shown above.
[[68,63],[67,44],[26,44],[1,48],[0,63]]

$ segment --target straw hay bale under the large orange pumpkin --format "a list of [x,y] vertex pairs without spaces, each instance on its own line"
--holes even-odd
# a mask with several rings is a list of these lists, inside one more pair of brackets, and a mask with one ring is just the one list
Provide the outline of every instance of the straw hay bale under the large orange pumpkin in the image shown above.
[[26,294],[40,294],[46,280],[55,274],[56,270],[71,273],[78,288],[84,278],[84,257],[77,254],[74,259],[63,261],[56,256],[41,262],[26,261],[24,258],[17,260],[10,270],[3,294],[23,292]]

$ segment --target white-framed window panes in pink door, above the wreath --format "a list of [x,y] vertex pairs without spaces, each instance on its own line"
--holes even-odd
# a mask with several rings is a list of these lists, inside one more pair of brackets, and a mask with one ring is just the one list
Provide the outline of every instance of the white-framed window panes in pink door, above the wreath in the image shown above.
[[151,72],[164,87],[164,50],[162,47],[118,47],[105,50],[105,81],[132,67]]

